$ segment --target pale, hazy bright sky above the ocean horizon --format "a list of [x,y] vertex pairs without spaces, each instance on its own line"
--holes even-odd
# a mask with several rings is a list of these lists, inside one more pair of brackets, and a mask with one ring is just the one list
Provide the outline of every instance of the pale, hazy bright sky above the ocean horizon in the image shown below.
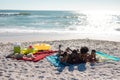
[[120,0],[0,0],[0,9],[120,10]]

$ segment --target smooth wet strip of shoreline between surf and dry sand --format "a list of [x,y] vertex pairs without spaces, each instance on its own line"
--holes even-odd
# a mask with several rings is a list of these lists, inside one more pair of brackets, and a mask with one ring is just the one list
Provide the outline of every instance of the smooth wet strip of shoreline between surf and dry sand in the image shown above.
[[0,33],[1,43],[56,41],[72,39],[89,39],[120,42],[120,34],[77,34],[77,33]]

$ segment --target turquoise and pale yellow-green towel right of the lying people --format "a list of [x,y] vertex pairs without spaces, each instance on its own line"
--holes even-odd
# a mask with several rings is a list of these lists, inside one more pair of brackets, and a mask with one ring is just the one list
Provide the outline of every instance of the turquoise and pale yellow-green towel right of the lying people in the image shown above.
[[103,52],[97,51],[96,54],[101,56],[101,57],[104,57],[106,59],[109,59],[109,60],[120,61],[119,57],[115,57],[115,56],[112,56],[112,55],[109,55],[109,54],[106,54],[106,53],[103,53]]

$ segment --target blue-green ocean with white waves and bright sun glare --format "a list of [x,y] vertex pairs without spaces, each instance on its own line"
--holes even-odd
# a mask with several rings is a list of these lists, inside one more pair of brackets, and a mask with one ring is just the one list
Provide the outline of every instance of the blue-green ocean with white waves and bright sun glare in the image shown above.
[[0,10],[0,33],[120,34],[120,13]]

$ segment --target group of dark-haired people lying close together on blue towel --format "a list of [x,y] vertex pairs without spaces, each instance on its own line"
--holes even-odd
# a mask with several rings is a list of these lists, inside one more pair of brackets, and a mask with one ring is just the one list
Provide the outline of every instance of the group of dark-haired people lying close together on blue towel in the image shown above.
[[66,48],[65,51],[61,50],[61,45],[59,45],[59,52],[58,56],[62,63],[69,63],[69,64],[79,64],[79,63],[86,63],[92,62],[95,63],[96,60],[96,51],[92,50],[91,54],[88,54],[88,47],[81,47],[81,49],[71,50],[69,47]]

